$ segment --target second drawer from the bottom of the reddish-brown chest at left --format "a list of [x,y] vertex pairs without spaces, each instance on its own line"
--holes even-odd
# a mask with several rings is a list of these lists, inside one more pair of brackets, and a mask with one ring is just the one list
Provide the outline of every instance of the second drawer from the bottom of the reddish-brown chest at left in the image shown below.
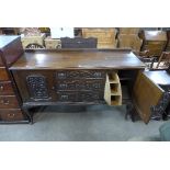
[[14,95],[0,95],[0,109],[18,109],[19,103]]

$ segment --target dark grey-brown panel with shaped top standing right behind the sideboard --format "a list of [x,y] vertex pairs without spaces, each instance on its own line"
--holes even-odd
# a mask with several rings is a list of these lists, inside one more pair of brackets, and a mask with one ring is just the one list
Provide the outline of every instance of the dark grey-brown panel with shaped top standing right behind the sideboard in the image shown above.
[[95,37],[61,37],[61,48],[97,48],[98,39]]

